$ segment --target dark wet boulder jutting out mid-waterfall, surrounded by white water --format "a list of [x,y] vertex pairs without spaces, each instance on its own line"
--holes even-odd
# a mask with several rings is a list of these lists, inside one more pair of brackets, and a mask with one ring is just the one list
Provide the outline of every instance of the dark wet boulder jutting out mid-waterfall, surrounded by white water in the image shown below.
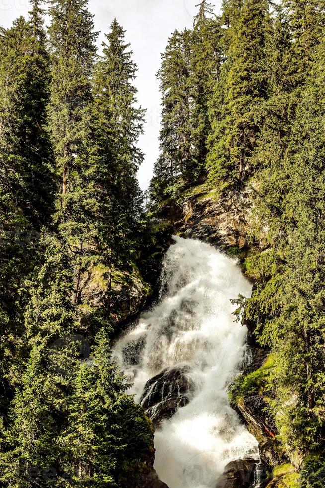
[[162,420],[171,418],[178,408],[189,403],[195,388],[189,372],[189,366],[168,368],[146,383],[140,404],[156,428]]

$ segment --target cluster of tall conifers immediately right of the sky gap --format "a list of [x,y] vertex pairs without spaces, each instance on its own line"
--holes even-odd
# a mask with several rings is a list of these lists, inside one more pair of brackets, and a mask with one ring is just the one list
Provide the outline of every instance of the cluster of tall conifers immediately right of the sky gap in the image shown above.
[[208,108],[220,76],[222,29],[208,2],[197,6],[193,30],[172,34],[158,72],[163,108],[161,154],[150,184],[156,203],[177,200],[184,189],[206,175],[211,133]]

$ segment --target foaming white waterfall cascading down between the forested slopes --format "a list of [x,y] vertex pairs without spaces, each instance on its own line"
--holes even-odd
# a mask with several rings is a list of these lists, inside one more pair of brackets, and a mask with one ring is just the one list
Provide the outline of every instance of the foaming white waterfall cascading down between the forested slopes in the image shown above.
[[[257,456],[257,442],[231,409],[226,387],[245,355],[245,328],[232,298],[251,286],[236,262],[208,244],[174,238],[160,302],[116,345],[115,356],[140,400],[146,382],[168,367],[188,366],[188,405],[155,433],[155,468],[170,488],[214,487],[225,465]],[[132,360],[130,360],[130,351]]]

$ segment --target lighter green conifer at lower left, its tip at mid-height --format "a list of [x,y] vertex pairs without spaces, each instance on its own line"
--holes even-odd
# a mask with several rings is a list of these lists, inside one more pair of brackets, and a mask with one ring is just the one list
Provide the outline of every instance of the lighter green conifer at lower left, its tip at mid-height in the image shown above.
[[59,434],[75,366],[64,340],[73,331],[71,259],[62,243],[47,233],[41,237],[40,254],[43,263],[25,283],[30,298],[21,349],[26,362],[20,366],[0,457],[2,481],[16,486],[29,486],[26,480],[41,485],[43,470],[61,468],[57,460],[65,448]]

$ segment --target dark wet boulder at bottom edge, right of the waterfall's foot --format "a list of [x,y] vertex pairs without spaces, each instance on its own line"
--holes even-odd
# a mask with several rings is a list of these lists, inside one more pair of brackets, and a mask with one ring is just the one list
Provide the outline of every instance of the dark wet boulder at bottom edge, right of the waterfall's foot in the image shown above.
[[215,488],[251,488],[255,481],[255,470],[259,461],[252,458],[231,461],[225,467]]

